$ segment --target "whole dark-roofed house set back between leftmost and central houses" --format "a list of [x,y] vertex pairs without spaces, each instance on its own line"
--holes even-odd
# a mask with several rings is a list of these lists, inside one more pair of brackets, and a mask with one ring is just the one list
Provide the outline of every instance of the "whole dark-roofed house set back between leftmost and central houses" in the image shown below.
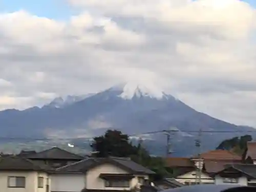
[[38,163],[45,163],[46,165],[55,168],[72,164],[74,162],[84,159],[84,157],[70,153],[66,150],[62,150],[59,147],[52,147],[49,148],[48,150],[41,151],[38,153],[22,152],[19,154],[19,156],[25,157]]

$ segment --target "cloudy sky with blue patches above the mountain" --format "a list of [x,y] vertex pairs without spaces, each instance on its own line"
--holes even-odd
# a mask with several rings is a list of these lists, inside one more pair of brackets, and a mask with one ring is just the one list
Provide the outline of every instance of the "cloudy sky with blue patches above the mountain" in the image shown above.
[[0,0],[0,110],[156,84],[256,127],[256,1]]

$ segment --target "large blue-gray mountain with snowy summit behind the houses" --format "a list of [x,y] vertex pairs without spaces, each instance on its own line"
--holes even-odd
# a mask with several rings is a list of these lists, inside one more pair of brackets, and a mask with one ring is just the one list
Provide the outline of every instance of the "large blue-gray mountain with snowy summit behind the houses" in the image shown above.
[[[157,86],[137,83],[119,84],[90,96],[57,98],[42,108],[0,112],[0,134],[6,138],[88,138],[103,134],[107,129],[133,135],[170,127],[181,130],[172,137],[176,156],[196,153],[193,146],[198,133],[191,131],[254,130],[200,113]],[[238,135],[203,134],[202,150],[216,147],[222,140]],[[163,155],[165,137],[162,133],[150,135],[144,144],[153,153]]]

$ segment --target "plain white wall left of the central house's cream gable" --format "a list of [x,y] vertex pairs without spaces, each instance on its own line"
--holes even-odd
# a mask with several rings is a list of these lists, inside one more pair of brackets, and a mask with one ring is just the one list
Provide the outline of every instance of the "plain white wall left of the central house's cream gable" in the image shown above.
[[83,174],[53,174],[51,175],[51,191],[79,192],[86,185]]

